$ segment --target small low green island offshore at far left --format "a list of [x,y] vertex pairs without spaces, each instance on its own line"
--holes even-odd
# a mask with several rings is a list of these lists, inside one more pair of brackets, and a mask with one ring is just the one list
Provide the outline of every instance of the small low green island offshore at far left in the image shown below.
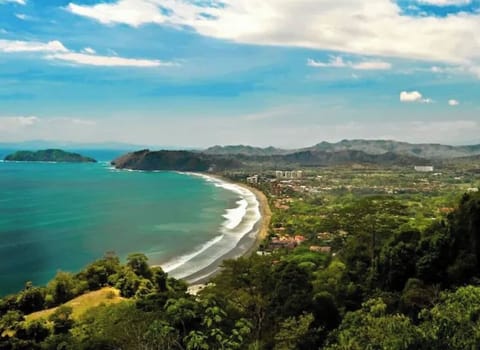
[[5,157],[11,162],[61,162],[61,163],[96,163],[90,157],[78,153],[66,152],[60,149],[46,149],[40,151],[18,151]]

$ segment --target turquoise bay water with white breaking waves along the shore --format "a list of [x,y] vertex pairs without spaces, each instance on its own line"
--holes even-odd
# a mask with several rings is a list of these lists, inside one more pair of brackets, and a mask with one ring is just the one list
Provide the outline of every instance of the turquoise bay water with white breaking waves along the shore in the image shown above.
[[[5,151],[0,150],[3,159]],[[143,252],[187,277],[235,248],[259,220],[249,191],[208,177],[97,164],[0,162],[0,295],[113,251]]]

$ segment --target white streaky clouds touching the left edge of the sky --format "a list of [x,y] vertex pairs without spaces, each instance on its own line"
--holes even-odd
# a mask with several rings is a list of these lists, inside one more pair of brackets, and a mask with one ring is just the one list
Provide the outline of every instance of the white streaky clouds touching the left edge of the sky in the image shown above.
[[85,48],[82,52],[74,52],[67,49],[60,41],[49,42],[0,40],[0,52],[39,52],[45,53],[44,58],[49,60],[70,62],[77,65],[103,66],[103,67],[170,67],[174,62],[125,58],[119,56],[97,55],[92,48]]

